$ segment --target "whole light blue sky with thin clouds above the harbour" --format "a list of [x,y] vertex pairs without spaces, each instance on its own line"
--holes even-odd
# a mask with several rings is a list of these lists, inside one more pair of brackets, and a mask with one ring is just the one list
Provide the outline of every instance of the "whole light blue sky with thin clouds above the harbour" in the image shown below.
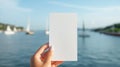
[[0,0],[0,22],[45,29],[50,13],[77,13],[78,27],[105,27],[120,22],[120,0]]

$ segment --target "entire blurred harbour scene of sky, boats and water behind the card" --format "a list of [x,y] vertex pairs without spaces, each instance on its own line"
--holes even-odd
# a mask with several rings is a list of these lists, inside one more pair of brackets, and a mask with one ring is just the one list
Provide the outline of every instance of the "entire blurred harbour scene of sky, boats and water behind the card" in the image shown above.
[[49,41],[49,13],[77,13],[78,61],[59,67],[120,67],[120,0],[0,0],[0,67],[29,67]]

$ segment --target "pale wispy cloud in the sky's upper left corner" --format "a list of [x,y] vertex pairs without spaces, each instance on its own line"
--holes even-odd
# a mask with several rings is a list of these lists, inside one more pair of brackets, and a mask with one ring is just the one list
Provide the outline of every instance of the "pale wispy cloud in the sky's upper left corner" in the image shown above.
[[22,12],[31,12],[32,11],[30,8],[20,7],[18,0],[0,0],[0,9],[12,10],[12,11],[22,11]]

